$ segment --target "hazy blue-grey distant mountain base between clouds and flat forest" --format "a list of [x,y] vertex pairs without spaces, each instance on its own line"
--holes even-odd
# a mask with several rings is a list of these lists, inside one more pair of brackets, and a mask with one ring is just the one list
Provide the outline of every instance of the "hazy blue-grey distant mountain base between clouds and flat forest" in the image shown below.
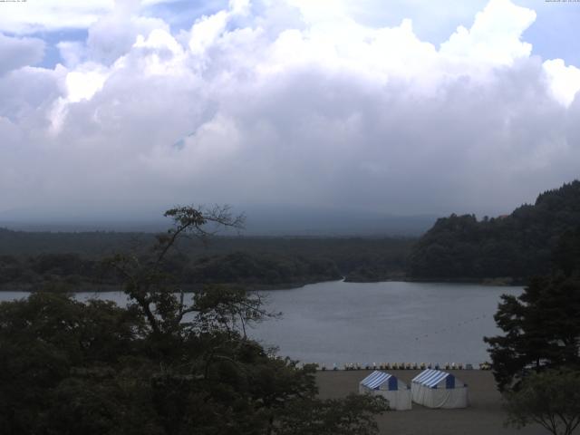
[[[35,214],[33,210],[18,209],[0,213],[0,227],[23,231],[157,232],[169,227],[169,220],[162,217],[163,211],[140,209],[115,215],[95,211],[64,217],[58,212]],[[246,215],[246,228],[242,232],[245,236],[419,236],[438,218],[291,206],[238,206],[232,211]]]

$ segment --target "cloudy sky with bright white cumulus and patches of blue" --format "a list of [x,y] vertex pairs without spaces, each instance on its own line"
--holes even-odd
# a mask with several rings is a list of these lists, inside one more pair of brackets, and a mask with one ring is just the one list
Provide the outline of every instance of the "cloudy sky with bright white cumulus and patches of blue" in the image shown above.
[[490,216],[580,169],[580,2],[0,2],[0,217]]

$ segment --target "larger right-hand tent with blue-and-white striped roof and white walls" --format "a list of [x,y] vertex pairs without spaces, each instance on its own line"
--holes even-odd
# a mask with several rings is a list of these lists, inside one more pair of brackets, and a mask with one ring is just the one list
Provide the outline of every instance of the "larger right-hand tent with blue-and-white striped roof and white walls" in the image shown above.
[[468,386],[449,372],[425,370],[411,381],[414,402],[429,408],[465,408]]

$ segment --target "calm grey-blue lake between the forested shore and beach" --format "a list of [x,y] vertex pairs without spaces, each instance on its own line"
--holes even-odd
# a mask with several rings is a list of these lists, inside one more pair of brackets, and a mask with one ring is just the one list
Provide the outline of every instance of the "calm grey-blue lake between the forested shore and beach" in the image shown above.
[[[280,319],[248,330],[279,354],[332,367],[347,362],[487,361],[484,335],[499,333],[493,320],[502,294],[521,287],[448,283],[345,283],[305,285],[261,292]],[[0,292],[0,300],[24,297]],[[82,293],[126,302],[119,292]]]

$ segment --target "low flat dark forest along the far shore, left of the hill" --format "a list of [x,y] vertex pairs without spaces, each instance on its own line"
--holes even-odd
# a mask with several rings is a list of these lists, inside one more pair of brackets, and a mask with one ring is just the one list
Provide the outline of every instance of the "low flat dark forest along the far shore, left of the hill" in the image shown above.
[[[0,229],[0,285],[74,291],[121,282],[103,267],[116,252],[150,254],[154,235],[25,233]],[[243,284],[275,288],[339,279],[401,276],[412,240],[405,238],[214,237],[203,246],[179,240],[164,267],[184,285]]]

